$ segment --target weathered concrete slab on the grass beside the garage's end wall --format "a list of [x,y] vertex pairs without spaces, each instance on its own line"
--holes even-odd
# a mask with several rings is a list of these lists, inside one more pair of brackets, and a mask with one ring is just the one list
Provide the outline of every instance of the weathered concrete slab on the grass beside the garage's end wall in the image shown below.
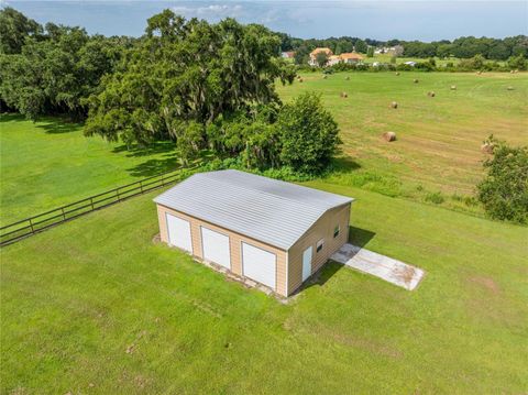
[[331,260],[408,290],[415,289],[425,275],[421,268],[348,243]]

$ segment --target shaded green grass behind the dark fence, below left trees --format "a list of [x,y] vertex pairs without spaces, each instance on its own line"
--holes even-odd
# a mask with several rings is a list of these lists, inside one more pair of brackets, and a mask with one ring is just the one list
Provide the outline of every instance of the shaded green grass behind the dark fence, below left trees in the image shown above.
[[52,118],[0,118],[1,222],[9,223],[177,166],[173,144],[131,150]]

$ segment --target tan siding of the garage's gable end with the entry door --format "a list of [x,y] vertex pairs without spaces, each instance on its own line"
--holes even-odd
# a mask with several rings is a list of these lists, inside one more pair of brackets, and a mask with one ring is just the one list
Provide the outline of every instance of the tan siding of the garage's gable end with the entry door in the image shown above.
[[[288,251],[288,293],[294,293],[302,283],[302,252],[310,245],[314,249],[311,274],[317,272],[328,259],[349,240],[350,204],[337,207],[324,213]],[[333,229],[341,227],[333,238]],[[324,239],[324,245],[317,252],[316,244]]]

